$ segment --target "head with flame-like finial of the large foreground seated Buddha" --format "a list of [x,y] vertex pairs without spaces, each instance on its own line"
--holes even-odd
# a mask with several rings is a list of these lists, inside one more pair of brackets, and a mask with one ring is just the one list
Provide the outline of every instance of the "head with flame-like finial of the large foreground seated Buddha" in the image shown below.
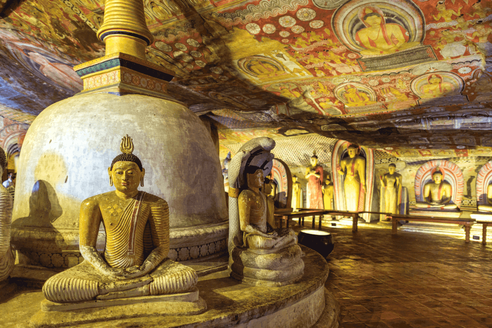
[[144,186],[145,169],[140,159],[133,155],[133,141],[128,135],[122,138],[120,145],[122,154],[116,156],[108,167],[109,183],[117,191],[131,194],[138,190],[138,185]]

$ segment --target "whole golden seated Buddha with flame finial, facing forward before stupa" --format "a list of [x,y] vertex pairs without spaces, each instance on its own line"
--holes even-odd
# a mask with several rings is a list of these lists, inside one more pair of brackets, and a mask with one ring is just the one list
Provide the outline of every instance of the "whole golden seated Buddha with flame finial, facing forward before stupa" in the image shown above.
[[[123,137],[122,154],[108,168],[115,191],[82,202],[80,252],[84,262],[52,276],[43,294],[52,302],[85,302],[191,292],[197,274],[167,258],[169,208],[167,202],[139,191],[145,169],[132,154],[133,142]],[[106,247],[96,249],[100,223]]]

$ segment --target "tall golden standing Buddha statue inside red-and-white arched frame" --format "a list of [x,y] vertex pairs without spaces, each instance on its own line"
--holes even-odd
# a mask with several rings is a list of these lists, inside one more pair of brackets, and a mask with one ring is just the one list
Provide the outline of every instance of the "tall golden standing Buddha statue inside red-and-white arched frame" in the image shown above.
[[344,175],[343,191],[347,211],[364,211],[366,196],[366,160],[359,156],[359,146],[347,147],[348,157],[340,161],[338,173]]

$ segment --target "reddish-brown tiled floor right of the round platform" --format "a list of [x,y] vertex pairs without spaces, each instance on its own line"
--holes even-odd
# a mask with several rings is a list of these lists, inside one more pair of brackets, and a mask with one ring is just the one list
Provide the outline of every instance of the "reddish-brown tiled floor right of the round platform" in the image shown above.
[[323,229],[335,237],[326,287],[341,304],[341,328],[492,328],[491,244]]

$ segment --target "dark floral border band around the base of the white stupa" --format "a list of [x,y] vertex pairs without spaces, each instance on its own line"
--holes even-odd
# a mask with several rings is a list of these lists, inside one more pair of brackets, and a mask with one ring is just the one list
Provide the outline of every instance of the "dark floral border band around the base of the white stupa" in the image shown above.
[[[219,253],[227,249],[227,239],[220,239],[215,242],[180,248],[170,248],[167,257],[173,261],[194,260]],[[36,252],[18,250],[29,258],[30,265],[42,266],[45,268],[68,269],[84,261],[84,257],[79,252]]]

